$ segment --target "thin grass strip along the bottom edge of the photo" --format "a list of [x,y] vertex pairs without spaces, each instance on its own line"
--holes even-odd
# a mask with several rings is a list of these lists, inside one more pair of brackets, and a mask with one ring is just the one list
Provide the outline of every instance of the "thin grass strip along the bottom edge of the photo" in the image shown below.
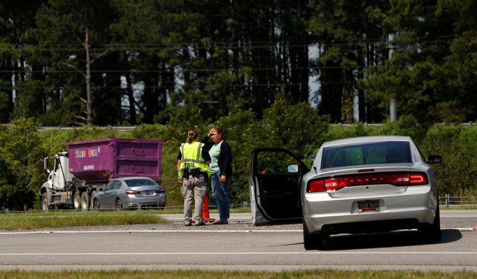
[[437,272],[437,271],[334,271],[320,269],[315,271],[0,271],[0,278],[38,279],[38,278],[327,278],[327,279],[402,279],[402,278],[477,278],[477,273],[470,271]]

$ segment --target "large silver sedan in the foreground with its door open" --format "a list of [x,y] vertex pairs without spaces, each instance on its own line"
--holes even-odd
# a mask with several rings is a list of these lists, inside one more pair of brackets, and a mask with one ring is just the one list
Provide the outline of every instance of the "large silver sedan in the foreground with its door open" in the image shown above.
[[311,169],[280,148],[254,150],[250,200],[254,224],[303,222],[306,250],[331,234],[421,229],[441,240],[439,191],[430,164],[408,136],[323,143]]

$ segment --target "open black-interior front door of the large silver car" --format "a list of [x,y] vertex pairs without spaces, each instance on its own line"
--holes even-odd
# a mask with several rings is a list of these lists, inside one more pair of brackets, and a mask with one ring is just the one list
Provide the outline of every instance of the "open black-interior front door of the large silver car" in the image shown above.
[[308,171],[308,167],[288,150],[253,150],[250,175],[253,224],[301,222],[301,177]]

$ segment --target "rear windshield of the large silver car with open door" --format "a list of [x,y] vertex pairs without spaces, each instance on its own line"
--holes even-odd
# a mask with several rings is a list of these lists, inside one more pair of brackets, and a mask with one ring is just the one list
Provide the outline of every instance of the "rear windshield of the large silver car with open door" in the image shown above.
[[366,164],[411,163],[407,141],[360,143],[323,149],[322,169]]

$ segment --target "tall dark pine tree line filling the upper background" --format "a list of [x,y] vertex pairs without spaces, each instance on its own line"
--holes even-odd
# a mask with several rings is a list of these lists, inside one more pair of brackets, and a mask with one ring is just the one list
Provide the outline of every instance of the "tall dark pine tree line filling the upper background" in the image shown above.
[[2,0],[0,122],[215,122],[278,94],[331,122],[385,122],[391,99],[474,122],[476,27],[472,0]]

